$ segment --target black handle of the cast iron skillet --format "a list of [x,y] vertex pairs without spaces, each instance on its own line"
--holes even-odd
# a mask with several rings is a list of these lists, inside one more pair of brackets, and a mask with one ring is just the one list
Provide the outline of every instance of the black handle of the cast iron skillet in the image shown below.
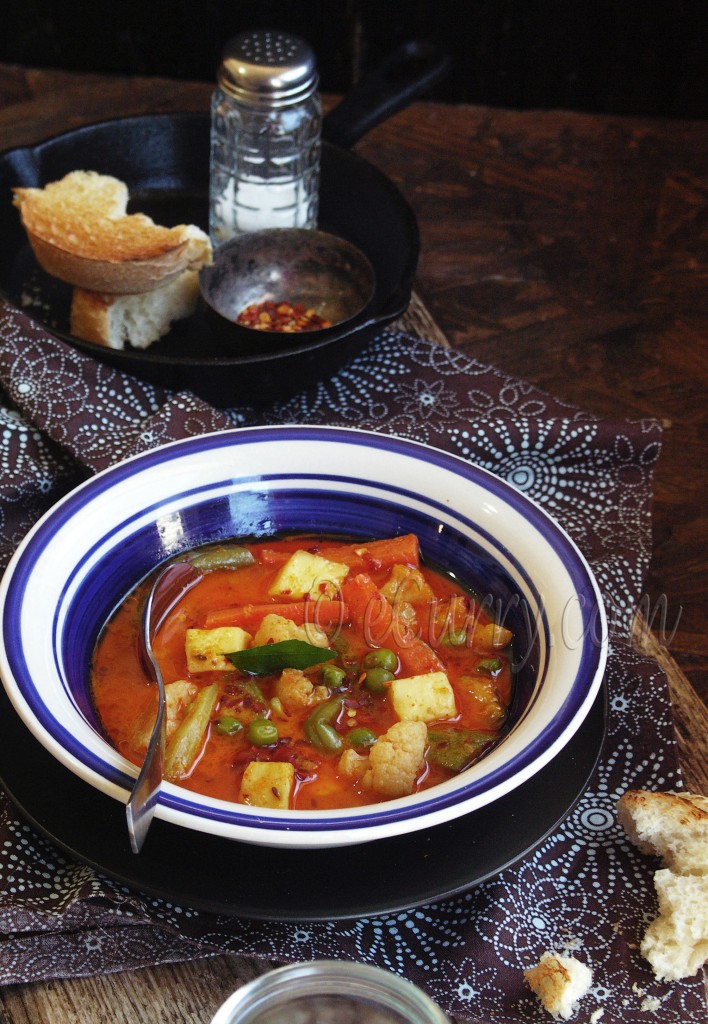
[[323,138],[348,150],[377,124],[428,92],[448,75],[451,65],[449,54],[432,43],[403,43],[330,111],[323,122]]

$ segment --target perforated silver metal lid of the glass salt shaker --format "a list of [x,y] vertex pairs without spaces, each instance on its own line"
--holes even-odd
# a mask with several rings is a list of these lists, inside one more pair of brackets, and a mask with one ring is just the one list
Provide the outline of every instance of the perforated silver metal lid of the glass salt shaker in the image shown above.
[[317,88],[315,53],[304,40],[286,32],[242,32],[224,46],[218,83],[246,103],[290,106]]

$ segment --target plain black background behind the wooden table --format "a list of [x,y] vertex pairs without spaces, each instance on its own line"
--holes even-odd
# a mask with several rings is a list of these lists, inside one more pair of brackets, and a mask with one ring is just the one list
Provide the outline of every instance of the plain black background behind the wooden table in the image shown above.
[[707,23],[706,0],[5,0],[0,60],[213,81],[231,35],[276,28],[346,92],[417,37],[454,58],[434,99],[702,119]]

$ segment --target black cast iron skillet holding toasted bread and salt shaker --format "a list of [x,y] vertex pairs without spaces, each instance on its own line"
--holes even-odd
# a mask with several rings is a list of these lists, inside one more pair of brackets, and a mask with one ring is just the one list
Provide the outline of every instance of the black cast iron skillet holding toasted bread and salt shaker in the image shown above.
[[[376,287],[362,313],[288,349],[235,356],[203,309],[150,348],[112,350],[69,334],[71,289],[42,271],[11,204],[11,188],[43,186],[71,170],[95,170],[128,185],[131,209],[158,223],[207,227],[209,117],[167,114],[88,125],[0,156],[0,293],[77,349],[154,383],[188,388],[219,408],[281,399],[331,376],[408,306],[418,262],[415,216],[393,183],[343,148],[447,73],[425,44],[395,51],[325,119],[319,226],[358,246]],[[334,138],[337,141],[330,141]]]

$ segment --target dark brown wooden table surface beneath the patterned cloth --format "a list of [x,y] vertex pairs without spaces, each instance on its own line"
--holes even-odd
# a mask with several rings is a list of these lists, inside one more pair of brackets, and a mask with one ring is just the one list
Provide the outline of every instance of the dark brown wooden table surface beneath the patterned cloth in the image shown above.
[[[119,115],[207,110],[211,85],[0,65],[0,148]],[[418,102],[357,146],[418,217],[403,326],[602,417],[659,419],[653,629],[688,784],[708,793],[704,592],[708,127]],[[3,1024],[205,1024],[268,969],[219,956],[0,990]]]

